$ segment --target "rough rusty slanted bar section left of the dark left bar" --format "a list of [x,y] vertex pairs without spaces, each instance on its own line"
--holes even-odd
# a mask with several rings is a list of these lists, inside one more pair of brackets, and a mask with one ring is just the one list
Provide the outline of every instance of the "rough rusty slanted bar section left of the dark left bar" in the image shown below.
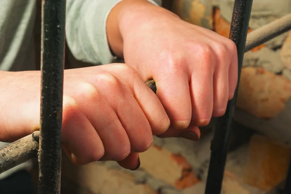
[[36,157],[39,131],[33,132],[0,149],[0,174]]

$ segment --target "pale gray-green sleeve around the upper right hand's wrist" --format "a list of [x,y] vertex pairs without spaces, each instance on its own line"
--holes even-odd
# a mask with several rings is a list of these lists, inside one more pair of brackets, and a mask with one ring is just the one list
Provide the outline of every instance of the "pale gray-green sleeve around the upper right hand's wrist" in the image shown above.
[[[106,35],[106,20],[121,0],[67,0],[66,41],[77,60],[108,64],[115,60]],[[161,6],[162,0],[148,0]]]

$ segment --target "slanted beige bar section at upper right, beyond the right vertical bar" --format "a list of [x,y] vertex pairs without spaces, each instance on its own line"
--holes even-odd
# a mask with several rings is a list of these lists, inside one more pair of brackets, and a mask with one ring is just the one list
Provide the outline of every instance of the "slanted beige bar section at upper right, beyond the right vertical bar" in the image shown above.
[[288,30],[291,30],[291,14],[285,15],[250,32],[246,39],[244,52],[259,46]]

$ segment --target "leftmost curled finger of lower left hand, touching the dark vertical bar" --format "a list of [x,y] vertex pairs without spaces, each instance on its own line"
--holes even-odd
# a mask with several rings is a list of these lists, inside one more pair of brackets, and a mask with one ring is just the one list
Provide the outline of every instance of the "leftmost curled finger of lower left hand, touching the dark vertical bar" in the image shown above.
[[65,118],[63,125],[65,153],[75,164],[98,161],[105,151],[100,137],[85,115],[76,112],[71,114]]

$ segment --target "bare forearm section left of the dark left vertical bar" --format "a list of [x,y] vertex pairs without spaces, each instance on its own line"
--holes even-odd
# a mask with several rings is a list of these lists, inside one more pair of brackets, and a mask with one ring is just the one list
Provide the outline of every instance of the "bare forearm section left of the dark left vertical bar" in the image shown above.
[[0,141],[12,142],[39,127],[40,71],[0,71],[0,80]]

